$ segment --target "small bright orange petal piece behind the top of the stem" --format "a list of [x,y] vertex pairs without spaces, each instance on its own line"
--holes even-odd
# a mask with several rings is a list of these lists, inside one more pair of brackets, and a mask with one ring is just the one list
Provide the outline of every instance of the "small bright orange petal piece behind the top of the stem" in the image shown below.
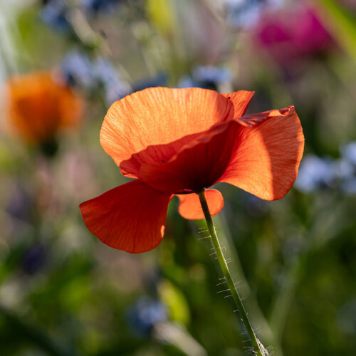
[[[177,195],[177,197],[180,201],[178,211],[184,219],[204,219],[204,213],[201,210],[198,194],[180,194]],[[219,214],[221,209],[224,207],[224,198],[219,190],[207,189],[205,191],[205,198],[208,203],[211,216]]]

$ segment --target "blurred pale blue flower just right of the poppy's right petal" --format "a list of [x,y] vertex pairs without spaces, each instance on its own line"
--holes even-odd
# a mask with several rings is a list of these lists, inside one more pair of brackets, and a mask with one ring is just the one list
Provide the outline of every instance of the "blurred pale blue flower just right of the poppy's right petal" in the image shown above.
[[300,164],[295,187],[300,192],[313,192],[314,190],[330,187],[335,179],[335,165],[328,158],[315,155],[306,155]]

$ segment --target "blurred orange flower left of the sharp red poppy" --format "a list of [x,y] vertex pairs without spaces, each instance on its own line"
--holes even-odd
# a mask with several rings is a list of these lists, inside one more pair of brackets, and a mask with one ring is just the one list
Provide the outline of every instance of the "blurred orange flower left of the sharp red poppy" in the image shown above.
[[11,124],[27,142],[52,140],[63,127],[77,125],[83,113],[81,98],[47,71],[11,77],[6,92]]

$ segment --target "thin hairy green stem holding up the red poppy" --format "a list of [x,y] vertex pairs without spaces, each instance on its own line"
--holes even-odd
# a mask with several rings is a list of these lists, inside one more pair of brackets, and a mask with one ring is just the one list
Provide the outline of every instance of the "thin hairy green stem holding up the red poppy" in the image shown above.
[[211,214],[209,211],[208,204],[206,202],[205,194],[204,194],[204,189],[201,192],[197,192],[199,199],[200,199],[200,204],[201,208],[203,209],[206,224],[208,225],[209,233],[211,236],[211,241],[213,243],[213,246],[215,248],[216,252],[216,258],[219,261],[221,270],[224,274],[224,278],[226,280],[226,283],[229,287],[229,290],[231,291],[231,295],[234,298],[234,302],[236,304],[236,307],[239,310],[239,314],[241,316],[241,321],[244,323],[244,326],[246,328],[248,337],[250,337],[251,344],[253,347],[253,352],[255,355],[258,356],[266,356],[268,353],[266,352],[266,349],[263,347],[261,342],[256,337],[255,332],[253,331],[253,328],[251,326],[250,320],[248,320],[248,315],[246,313],[246,310],[244,308],[244,304],[242,303],[241,297],[239,295],[239,292],[236,289],[235,283],[231,277],[231,273],[229,271],[229,267],[227,266],[226,260],[224,258],[224,253],[221,251],[221,246],[219,243],[218,236],[216,235],[216,230],[215,226],[213,224],[213,220],[211,219]]

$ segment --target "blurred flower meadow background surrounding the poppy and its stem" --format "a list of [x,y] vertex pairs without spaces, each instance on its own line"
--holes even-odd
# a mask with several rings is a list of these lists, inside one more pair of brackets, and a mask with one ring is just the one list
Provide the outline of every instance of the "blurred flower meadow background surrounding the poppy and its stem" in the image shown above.
[[127,181],[100,147],[106,110],[152,86],[254,90],[249,113],[295,105],[293,189],[268,202],[219,184],[215,222],[273,355],[354,355],[354,0],[0,0],[0,354],[248,354],[178,199],[140,255],[81,219]]

